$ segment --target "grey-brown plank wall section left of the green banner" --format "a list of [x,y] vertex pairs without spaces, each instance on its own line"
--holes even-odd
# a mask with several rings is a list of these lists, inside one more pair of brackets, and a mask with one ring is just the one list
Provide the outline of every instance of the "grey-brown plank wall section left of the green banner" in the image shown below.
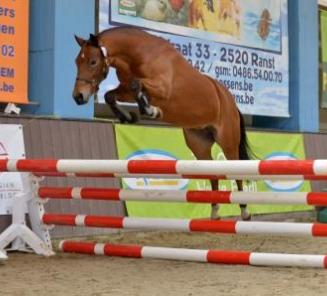
[[[26,158],[117,159],[113,125],[107,122],[0,117],[1,124],[23,126]],[[119,187],[119,180],[108,178],[47,178],[49,186]],[[46,210],[54,213],[80,213],[122,216],[121,202],[52,200]],[[10,217],[0,216],[0,229]],[[108,233],[110,230],[55,227],[55,237]]]

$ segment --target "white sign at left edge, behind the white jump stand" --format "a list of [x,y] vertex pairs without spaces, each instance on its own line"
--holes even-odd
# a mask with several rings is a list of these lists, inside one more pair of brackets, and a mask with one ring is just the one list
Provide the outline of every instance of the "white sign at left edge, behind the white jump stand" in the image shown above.
[[[0,158],[25,158],[23,127],[0,124]],[[0,172],[0,215],[12,213],[13,196],[22,192],[20,173]]]

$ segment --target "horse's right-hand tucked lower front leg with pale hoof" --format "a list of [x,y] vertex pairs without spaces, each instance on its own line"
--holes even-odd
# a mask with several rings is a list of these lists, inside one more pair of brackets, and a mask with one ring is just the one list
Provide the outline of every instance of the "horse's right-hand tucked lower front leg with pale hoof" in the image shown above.
[[143,90],[142,83],[138,79],[133,79],[130,84],[130,89],[135,95],[135,101],[139,106],[141,114],[146,114],[151,118],[161,118],[162,111],[159,107],[150,104],[148,95]]

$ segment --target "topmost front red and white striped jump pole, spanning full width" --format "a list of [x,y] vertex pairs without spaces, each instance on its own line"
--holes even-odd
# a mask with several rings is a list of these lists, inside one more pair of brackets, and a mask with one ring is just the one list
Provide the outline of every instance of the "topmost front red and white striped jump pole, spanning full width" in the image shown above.
[[327,160],[37,160],[2,159],[2,172],[76,174],[327,175]]

